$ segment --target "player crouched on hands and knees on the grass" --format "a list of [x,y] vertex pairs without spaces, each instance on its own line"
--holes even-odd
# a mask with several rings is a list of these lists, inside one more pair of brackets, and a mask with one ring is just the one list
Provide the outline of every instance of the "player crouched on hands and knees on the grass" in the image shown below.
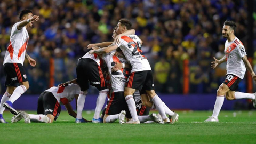
[[[18,115],[12,117],[11,122],[15,123],[20,121],[22,118],[25,119],[25,123],[33,122],[42,122],[42,123],[52,123],[54,120],[56,121],[61,107],[60,105],[64,105],[68,110],[68,114],[74,118],[76,118],[76,112],[73,110],[70,102],[75,98],[76,105],[78,95],[80,93],[80,87],[77,84],[74,84],[75,81],[66,86],[53,86],[48,90],[42,92],[38,98],[37,105],[37,114],[27,114],[25,111],[19,111]],[[86,119],[82,119],[82,122],[90,122]]]

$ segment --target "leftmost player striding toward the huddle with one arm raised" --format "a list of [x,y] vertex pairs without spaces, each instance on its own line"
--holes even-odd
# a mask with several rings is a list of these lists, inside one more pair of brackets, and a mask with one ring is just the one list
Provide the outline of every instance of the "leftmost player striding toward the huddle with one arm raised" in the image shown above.
[[33,22],[39,20],[39,16],[33,15],[31,10],[22,10],[19,14],[19,19],[20,21],[12,27],[10,44],[4,56],[3,65],[7,90],[0,103],[0,122],[2,123],[5,123],[2,115],[4,108],[17,115],[18,112],[13,108],[12,104],[29,88],[27,75],[23,68],[25,57],[31,66],[36,66],[36,61],[26,53],[29,39],[27,27],[32,27]]

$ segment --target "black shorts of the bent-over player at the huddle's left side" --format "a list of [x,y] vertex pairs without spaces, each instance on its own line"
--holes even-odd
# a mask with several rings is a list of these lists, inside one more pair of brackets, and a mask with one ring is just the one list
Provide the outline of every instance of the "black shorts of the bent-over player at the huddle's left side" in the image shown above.
[[81,91],[89,89],[89,84],[99,91],[107,89],[100,66],[92,59],[80,59],[76,66],[77,84]]

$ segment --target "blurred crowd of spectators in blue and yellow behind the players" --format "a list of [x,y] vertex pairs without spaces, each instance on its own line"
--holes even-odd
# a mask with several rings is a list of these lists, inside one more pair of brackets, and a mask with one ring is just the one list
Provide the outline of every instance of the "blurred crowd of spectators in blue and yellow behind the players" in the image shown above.
[[[156,91],[161,93],[182,93],[184,60],[189,61],[190,93],[217,91],[225,79],[226,64],[212,70],[211,61],[223,57],[226,39],[221,31],[225,20],[237,23],[235,35],[248,48],[247,4],[242,0],[2,0],[0,63],[9,45],[11,28],[23,9],[39,15],[39,21],[27,29],[27,53],[37,61],[33,68],[25,59],[30,94],[49,87],[51,58],[55,85],[76,78],[76,62],[88,51],[87,45],[111,41],[113,28],[121,18],[129,19],[142,39]],[[2,64],[0,73],[4,93]],[[246,91],[245,82],[241,82],[239,91]]]

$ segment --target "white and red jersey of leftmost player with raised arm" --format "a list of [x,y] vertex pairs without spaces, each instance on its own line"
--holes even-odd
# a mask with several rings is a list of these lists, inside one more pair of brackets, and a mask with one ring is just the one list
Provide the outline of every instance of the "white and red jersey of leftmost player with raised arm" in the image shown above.
[[20,30],[17,29],[19,23],[15,23],[12,27],[10,44],[4,55],[4,64],[20,63],[23,65],[24,63],[29,35],[26,27],[22,27]]

